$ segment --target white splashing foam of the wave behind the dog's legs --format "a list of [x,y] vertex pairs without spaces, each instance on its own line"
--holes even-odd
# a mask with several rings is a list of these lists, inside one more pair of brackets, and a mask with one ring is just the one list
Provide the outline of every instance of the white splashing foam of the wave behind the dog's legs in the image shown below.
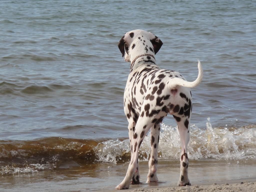
[[[212,128],[210,118],[207,120],[205,129],[199,129],[194,124],[190,126],[189,159],[240,160],[256,157],[256,126]],[[140,147],[141,159],[148,159],[150,149],[149,133]],[[122,160],[123,156],[130,155],[130,142],[129,139],[111,139],[99,143],[94,147],[94,152],[97,161],[116,163]],[[179,159],[180,140],[176,126],[161,124],[158,156],[159,159]]]

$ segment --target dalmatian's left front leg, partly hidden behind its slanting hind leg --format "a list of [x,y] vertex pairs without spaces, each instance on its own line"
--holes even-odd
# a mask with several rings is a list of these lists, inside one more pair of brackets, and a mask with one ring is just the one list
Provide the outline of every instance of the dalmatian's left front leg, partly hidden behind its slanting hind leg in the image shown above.
[[[135,130],[135,122],[129,122],[128,130],[129,130],[129,139],[130,139],[130,146],[131,146],[131,159],[132,159],[132,140],[133,140],[133,133]],[[139,173],[139,164],[137,163],[136,170],[131,180],[131,185],[140,184],[140,173]]]

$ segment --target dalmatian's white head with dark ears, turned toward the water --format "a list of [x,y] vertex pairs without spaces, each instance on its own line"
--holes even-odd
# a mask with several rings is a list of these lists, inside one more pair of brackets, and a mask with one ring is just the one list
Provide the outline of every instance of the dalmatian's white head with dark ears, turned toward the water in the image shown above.
[[153,33],[138,29],[125,33],[119,41],[118,48],[122,57],[125,55],[124,60],[130,62],[131,55],[134,57],[145,53],[155,55],[162,45],[163,42]]

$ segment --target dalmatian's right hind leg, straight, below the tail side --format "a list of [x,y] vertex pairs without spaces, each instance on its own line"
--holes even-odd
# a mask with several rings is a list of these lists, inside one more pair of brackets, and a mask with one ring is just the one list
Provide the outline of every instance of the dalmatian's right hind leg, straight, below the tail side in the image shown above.
[[180,177],[178,181],[178,186],[191,185],[188,179],[188,155],[187,155],[187,145],[189,142],[189,118],[180,118],[180,121],[176,122],[179,129],[180,135],[180,146],[181,146],[181,156],[180,156]]

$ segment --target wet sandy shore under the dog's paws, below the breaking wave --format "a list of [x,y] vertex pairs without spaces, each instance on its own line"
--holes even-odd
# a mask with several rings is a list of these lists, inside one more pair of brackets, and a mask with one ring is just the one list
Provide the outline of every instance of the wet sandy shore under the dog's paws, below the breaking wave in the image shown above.
[[[37,173],[14,174],[1,176],[0,191],[116,191],[114,188],[124,178],[128,163],[124,164],[88,164],[78,165],[72,161],[54,170],[42,170]],[[179,161],[158,161],[158,183],[145,183],[148,173],[148,162],[140,162],[140,185],[132,185],[125,191],[196,191],[207,190],[212,185],[219,189],[231,187],[231,183],[254,182],[254,184],[238,185],[253,187],[256,181],[255,161],[218,161],[216,159],[189,160],[189,179],[192,186],[176,187],[179,178]],[[244,183],[245,184],[245,183]],[[253,188],[251,188],[253,189]],[[215,189],[212,189],[214,191]],[[233,189],[230,189],[232,191]],[[253,189],[255,190],[255,189]],[[250,191],[253,191],[250,190]],[[222,191],[222,189],[221,189]],[[239,190],[233,190],[239,191]]]

